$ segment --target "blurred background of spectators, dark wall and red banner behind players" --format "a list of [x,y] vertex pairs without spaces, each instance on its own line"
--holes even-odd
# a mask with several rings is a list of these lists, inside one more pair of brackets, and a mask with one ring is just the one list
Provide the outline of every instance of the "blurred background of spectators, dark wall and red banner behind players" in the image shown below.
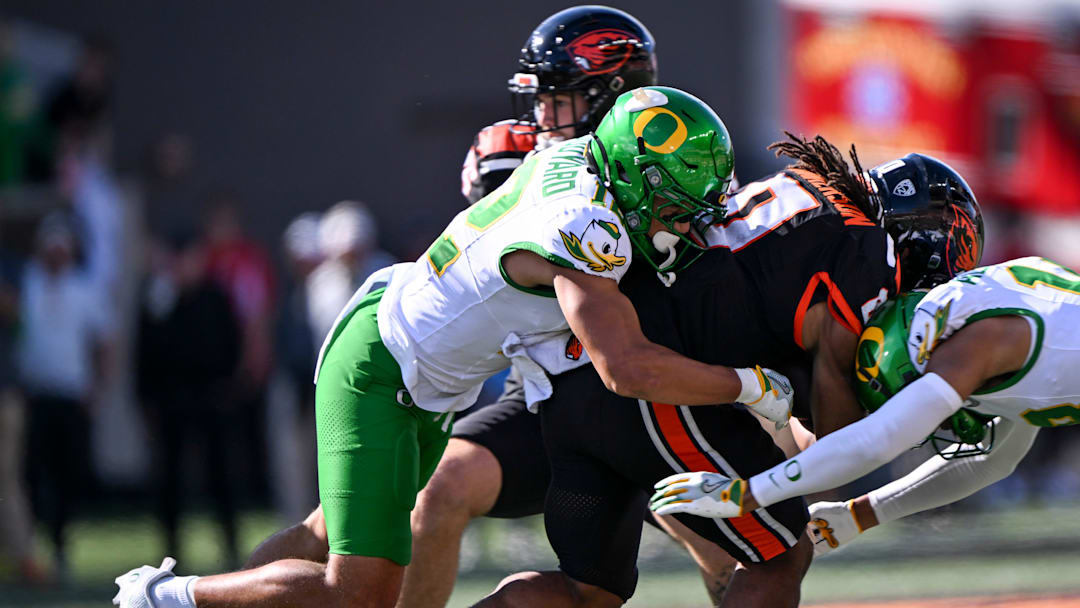
[[[984,262],[1080,268],[1080,2],[619,2],[663,84],[727,122],[745,184],[783,130],[969,178]],[[372,271],[465,204],[531,28],[568,4],[0,6],[0,576],[67,576],[85,513],[318,502],[314,359]],[[483,402],[484,400],[482,400]],[[1080,436],[1042,433],[973,508],[1080,498]]]

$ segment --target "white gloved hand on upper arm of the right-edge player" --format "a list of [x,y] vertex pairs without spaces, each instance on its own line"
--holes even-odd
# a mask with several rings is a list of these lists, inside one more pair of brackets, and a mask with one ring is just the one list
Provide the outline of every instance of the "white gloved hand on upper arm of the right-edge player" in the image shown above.
[[745,479],[732,479],[719,473],[698,471],[661,479],[649,500],[649,509],[661,515],[689,513],[701,517],[742,515]]

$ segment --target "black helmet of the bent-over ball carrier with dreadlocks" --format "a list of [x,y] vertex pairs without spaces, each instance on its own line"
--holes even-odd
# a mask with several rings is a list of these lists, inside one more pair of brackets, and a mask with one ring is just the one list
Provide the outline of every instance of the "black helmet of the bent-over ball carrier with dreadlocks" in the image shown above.
[[901,292],[932,287],[978,266],[983,213],[959,173],[932,157],[907,154],[867,174],[896,244]]

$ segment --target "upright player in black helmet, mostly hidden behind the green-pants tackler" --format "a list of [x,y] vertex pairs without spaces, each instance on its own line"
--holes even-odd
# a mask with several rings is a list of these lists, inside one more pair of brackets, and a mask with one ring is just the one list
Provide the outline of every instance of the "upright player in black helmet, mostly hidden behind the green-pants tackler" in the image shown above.
[[[545,18],[526,38],[510,80],[515,119],[484,127],[461,172],[462,194],[476,203],[502,186],[534,151],[586,135],[623,91],[656,84],[656,43],[632,15],[609,6],[572,6]],[[737,189],[732,178],[730,190]],[[567,356],[581,350],[567,344]],[[472,517],[522,517],[543,511],[551,479],[540,417],[525,406],[521,375],[512,370],[498,400],[457,418],[446,450],[413,510],[413,562],[399,606],[444,606],[458,573],[458,552]],[[657,524],[646,509],[644,516]],[[660,524],[658,524],[660,525]],[[705,587],[719,597],[731,558],[673,518],[662,524],[699,563]],[[275,533],[247,567],[285,556],[325,562],[325,523],[318,508]]]

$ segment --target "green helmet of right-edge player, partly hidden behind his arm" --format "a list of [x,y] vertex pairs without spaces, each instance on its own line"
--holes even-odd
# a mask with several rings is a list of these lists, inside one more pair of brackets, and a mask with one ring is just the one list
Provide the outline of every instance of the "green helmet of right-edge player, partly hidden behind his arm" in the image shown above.
[[[870,316],[855,348],[855,396],[874,413],[901,389],[922,376],[912,362],[907,338],[915,309],[927,292],[901,294],[881,305]],[[953,436],[931,434],[927,441],[943,458],[986,454],[994,447],[994,418],[961,408],[942,423]],[[988,435],[988,437],[987,437]],[[948,450],[951,445],[963,444]]]

